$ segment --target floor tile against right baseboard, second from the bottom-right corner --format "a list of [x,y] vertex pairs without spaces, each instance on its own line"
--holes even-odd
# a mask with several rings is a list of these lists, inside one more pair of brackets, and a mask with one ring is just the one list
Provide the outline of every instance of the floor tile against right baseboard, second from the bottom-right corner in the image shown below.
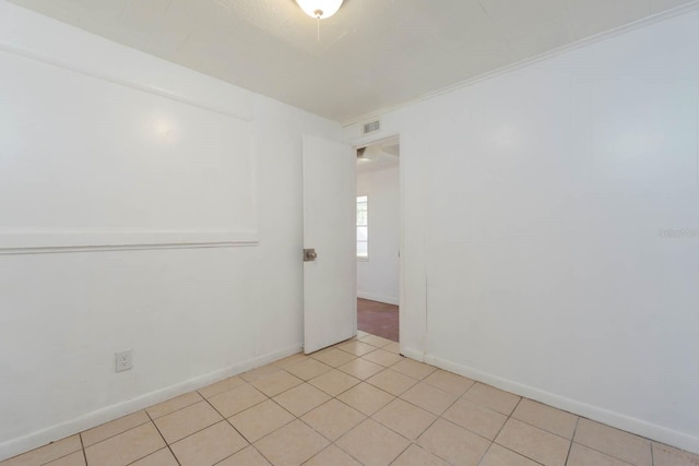
[[651,442],[631,433],[580,418],[573,439],[597,452],[637,466],[651,466]]

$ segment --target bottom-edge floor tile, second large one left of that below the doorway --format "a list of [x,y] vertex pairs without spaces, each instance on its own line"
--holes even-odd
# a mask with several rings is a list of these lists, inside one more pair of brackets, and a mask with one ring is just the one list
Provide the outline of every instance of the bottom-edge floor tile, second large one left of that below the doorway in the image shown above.
[[181,466],[211,466],[245,449],[248,442],[226,421],[170,445]]

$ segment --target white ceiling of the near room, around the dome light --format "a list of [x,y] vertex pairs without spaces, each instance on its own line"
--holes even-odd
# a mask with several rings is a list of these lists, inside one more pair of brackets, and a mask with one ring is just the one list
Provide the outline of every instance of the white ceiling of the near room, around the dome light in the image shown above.
[[692,0],[10,0],[340,122]]

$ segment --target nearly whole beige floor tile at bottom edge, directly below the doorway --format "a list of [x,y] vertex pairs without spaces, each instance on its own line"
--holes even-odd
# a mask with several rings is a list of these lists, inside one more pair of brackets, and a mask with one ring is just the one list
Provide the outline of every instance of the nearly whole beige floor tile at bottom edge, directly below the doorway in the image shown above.
[[388,465],[411,442],[372,419],[367,419],[335,442],[364,465]]

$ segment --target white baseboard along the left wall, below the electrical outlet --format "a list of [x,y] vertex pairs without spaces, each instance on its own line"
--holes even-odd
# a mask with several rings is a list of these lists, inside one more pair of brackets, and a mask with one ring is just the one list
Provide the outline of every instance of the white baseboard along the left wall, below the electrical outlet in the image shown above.
[[202,389],[214,382],[218,382],[220,380],[237,375],[247,370],[276,361],[277,359],[282,359],[286,356],[291,356],[301,351],[301,348],[303,345],[299,343],[297,345],[289,346],[277,351],[272,351],[238,362],[237,365],[227,367],[225,369],[213,371],[204,375],[176,383],[175,385],[170,385],[165,389],[156,390],[155,392],[143,394],[133,399],[128,399],[121,403],[117,403],[116,405],[97,409],[96,411],[85,414],[75,419],[71,419],[69,421],[61,422],[46,429],[37,430],[27,435],[12,439],[0,444],[0,461],[16,456],[24,452],[28,452],[29,450],[37,449],[50,442],[74,435],[78,432],[92,429],[93,427],[100,426],[105,422],[109,422],[110,420],[118,419],[122,416],[135,413],[140,409],[147,408],[149,406],[156,405],[175,396]]

